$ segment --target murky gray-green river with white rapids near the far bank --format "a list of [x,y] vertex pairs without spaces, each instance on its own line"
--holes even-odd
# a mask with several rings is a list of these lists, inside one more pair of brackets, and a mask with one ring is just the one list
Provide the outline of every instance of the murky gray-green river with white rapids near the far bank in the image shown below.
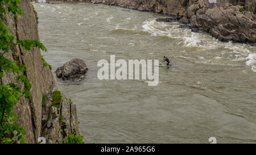
[[[91,3],[34,3],[46,61],[82,58],[85,79],[57,85],[76,103],[85,143],[256,143],[256,47],[156,22],[166,16]],[[146,59],[159,84],[100,80],[101,59]]]

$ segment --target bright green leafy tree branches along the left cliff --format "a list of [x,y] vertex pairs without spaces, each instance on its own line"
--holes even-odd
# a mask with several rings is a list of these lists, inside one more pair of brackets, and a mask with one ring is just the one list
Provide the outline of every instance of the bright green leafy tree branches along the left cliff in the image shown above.
[[[0,18],[7,12],[12,12],[14,18],[17,14],[22,15],[23,11],[19,8],[19,0],[0,0]],[[30,51],[31,46],[38,47],[47,52],[46,47],[38,40],[17,40],[15,36],[11,35],[7,30],[3,21],[0,20],[0,144],[2,143],[26,143],[24,136],[26,131],[20,127],[20,124],[15,121],[18,119],[14,110],[20,96],[25,98],[31,97],[31,83],[27,77],[24,76],[26,66],[18,62],[11,61],[5,57],[12,45],[19,45],[24,50]],[[24,89],[21,90],[15,83],[3,83],[3,76],[10,71],[18,74],[16,81],[24,83]],[[13,133],[15,135],[13,135]]]

